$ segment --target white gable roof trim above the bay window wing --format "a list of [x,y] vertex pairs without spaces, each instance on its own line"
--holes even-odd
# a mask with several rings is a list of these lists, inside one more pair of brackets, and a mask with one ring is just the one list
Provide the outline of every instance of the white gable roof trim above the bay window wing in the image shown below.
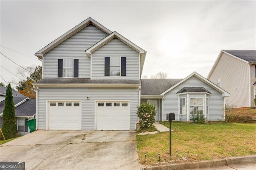
[[175,84],[174,86],[170,87],[168,90],[164,91],[163,93],[161,93],[160,95],[164,95],[165,93],[169,92],[170,90],[174,89],[175,87],[177,87],[178,85],[180,85],[181,83],[183,83],[184,81],[186,81],[187,79],[189,79],[190,77],[195,76],[196,78],[200,79],[201,81],[203,81],[204,83],[208,84],[209,86],[211,86],[212,88],[216,89],[217,91],[219,91],[220,93],[222,93],[222,97],[228,97],[230,96],[230,94],[228,92],[226,92],[225,90],[223,90],[222,88],[218,87],[216,84],[212,83],[211,81],[209,81],[208,79],[204,78],[202,75],[193,72],[192,74],[188,75],[188,77],[182,79],[182,81],[178,82],[177,84]]

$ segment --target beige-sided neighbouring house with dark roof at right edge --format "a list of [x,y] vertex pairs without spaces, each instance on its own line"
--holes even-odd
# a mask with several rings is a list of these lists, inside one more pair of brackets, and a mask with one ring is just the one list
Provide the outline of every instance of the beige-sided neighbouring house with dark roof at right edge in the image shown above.
[[256,50],[221,50],[207,79],[225,89],[226,105],[255,107]]

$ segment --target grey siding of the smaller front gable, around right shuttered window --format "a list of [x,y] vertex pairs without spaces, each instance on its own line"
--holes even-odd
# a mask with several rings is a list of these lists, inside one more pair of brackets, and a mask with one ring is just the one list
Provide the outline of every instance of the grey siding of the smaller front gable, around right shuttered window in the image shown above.
[[[104,76],[104,59],[112,55],[126,57],[126,76]],[[139,53],[114,38],[92,53],[92,79],[140,79]]]

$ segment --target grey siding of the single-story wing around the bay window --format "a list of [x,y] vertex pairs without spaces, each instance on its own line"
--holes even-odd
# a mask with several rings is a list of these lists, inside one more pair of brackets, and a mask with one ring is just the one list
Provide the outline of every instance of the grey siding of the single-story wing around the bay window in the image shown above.
[[[222,119],[224,116],[224,97],[222,97],[222,93],[216,91],[216,89],[192,76],[164,95],[164,121],[167,121],[165,115],[170,112],[175,113],[176,121],[187,121],[187,115],[178,115],[179,101],[178,95],[176,95],[176,93],[183,87],[204,87],[210,91],[212,94],[209,96],[208,119],[209,121],[218,121],[218,119]],[[204,97],[204,94],[189,94],[189,98],[190,97]],[[186,107],[189,107],[188,104],[189,100],[186,99]],[[188,112],[186,112],[186,114],[188,114]]]

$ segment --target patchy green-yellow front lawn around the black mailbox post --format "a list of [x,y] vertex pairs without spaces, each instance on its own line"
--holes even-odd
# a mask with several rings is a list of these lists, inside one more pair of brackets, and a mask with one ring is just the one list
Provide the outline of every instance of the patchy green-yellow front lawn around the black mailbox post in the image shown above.
[[[169,122],[162,124],[169,127]],[[172,158],[169,132],[136,136],[140,163],[154,165],[159,162],[158,154],[161,162],[183,162],[182,157],[199,161],[256,154],[256,124],[172,122],[172,130]]]

